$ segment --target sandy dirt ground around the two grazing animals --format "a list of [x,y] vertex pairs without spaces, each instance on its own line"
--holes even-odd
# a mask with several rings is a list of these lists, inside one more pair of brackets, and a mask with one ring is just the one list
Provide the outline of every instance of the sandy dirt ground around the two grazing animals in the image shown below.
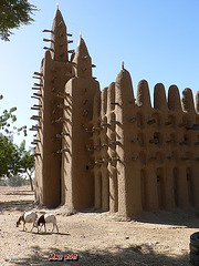
[[[15,227],[23,211],[56,214],[59,233],[31,233]],[[62,206],[41,209],[30,187],[0,186],[0,265],[189,265],[190,235],[198,232],[199,215],[192,211],[144,213],[122,222],[117,214],[87,211],[66,216]],[[77,254],[77,262],[50,262],[50,254]]]

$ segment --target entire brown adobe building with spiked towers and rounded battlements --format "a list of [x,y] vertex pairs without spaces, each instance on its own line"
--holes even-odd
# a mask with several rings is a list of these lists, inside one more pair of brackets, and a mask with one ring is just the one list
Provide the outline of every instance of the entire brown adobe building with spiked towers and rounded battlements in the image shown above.
[[[118,212],[199,208],[199,93],[142,80],[136,96],[122,65],[103,91],[92,75],[92,59],[80,37],[70,51],[57,8],[51,39],[32,88],[38,114],[35,201],[46,207]],[[69,53],[72,53],[69,57]]]

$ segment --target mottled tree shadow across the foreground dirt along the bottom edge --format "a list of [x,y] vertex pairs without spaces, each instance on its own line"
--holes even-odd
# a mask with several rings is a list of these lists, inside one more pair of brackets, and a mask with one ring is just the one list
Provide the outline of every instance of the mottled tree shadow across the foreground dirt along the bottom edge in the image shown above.
[[76,265],[76,266],[187,266],[189,262],[188,254],[181,254],[178,257],[168,257],[167,255],[156,254],[151,246],[143,244],[139,246],[132,246],[129,248],[117,247],[117,253],[101,252],[92,253],[91,250],[80,252],[77,262],[50,262],[49,255],[55,253],[56,255],[74,254],[70,249],[52,248],[41,249],[39,246],[32,247],[32,256],[24,258],[7,258],[7,262],[12,265]]

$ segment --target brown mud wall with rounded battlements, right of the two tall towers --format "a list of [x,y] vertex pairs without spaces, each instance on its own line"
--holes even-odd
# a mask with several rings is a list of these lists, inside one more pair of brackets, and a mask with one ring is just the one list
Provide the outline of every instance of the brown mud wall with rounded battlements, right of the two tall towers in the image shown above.
[[191,90],[185,89],[180,100],[171,85],[167,101],[158,83],[151,106],[147,81],[138,83],[135,99],[123,68],[116,82],[102,91],[101,110],[95,207],[125,216],[198,207],[198,93],[193,103]]

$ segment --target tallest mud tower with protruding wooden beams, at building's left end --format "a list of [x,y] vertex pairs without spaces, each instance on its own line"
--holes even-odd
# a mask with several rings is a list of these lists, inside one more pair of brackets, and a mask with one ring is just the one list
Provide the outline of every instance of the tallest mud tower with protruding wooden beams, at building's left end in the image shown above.
[[73,63],[69,61],[67,35],[61,11],[55,11],[51,43],[41,64],[41,72],[35,72],[40,83],[34,83],[33,98],[39,104],[33,105],[38,115],[31,119],[38,124],[31,130],[36,131],[35,140],[35,198],[41,205],[55,207],[61,203],[61,167],[62,167],[62,132],[63,103],[65,83],[74,76]]

